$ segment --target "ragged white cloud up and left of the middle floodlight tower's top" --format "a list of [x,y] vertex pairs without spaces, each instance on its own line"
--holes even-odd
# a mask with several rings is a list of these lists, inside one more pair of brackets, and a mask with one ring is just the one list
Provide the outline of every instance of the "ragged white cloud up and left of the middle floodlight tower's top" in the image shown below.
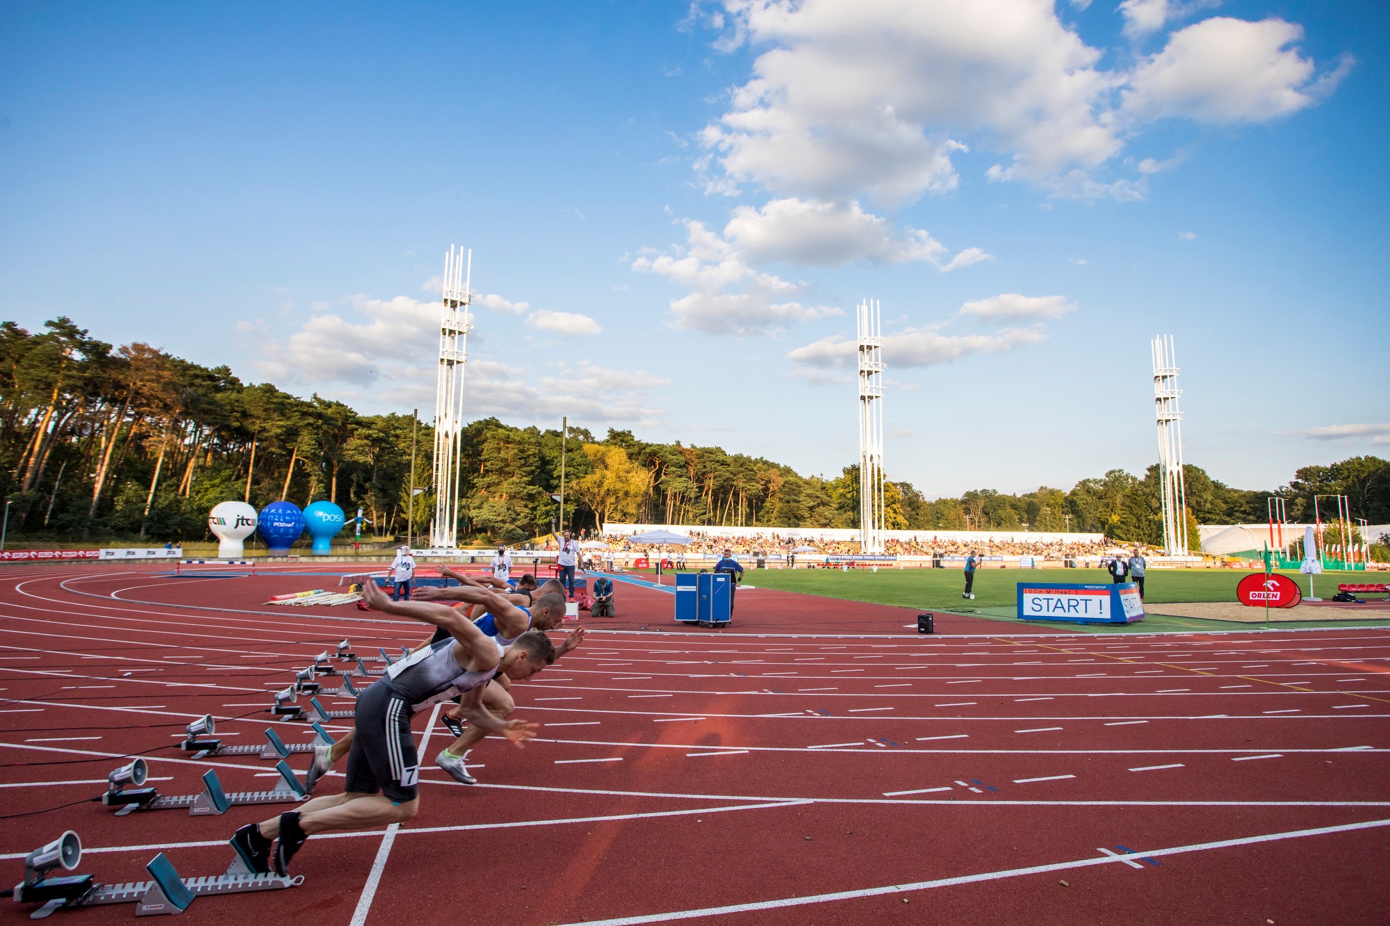
[[805,284],[758,273],[741,250],[702,222],[687,220],[684,225],[684,247],[632,261],[632,270],[660,274],[691,289],[670,303],[677,327],[726,335],[770,334],[798,321],[844,314],[834,306],[798,302],[795,296],[806,289]]

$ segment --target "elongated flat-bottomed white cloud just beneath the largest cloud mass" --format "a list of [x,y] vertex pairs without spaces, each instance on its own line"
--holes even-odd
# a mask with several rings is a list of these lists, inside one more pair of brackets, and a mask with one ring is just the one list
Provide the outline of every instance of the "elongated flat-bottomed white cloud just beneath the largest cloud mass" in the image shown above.
[[762,209],[739,206],[724,227],[724,238],[753,260],[799,264],[926,260],[941,270],[954,270],[990,257],[980,247],[969,247],[942,263],[947,246],[927,232],[906,228],[899,235],[888,220],[866,213],[858,202],[842,200],[785,197]]

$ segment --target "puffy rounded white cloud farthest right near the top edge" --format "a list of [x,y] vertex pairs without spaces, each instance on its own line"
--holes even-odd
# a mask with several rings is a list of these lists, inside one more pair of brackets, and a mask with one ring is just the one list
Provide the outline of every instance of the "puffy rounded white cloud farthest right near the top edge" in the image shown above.
[[1294,46],[1302,26],[1211,17],[1173,32],[1166,47],[1140,63],[1123,92],[1134,121],[1188,117],[1202,122],[1265,122],[1314,106],[1351,70],[1314,78],[1312,58]]

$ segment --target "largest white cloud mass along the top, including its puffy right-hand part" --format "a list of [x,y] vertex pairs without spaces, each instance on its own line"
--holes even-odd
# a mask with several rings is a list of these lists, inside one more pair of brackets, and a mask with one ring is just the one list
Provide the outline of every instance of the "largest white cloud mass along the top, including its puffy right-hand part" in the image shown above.
[[[1125,0],[1119,11],[1143,38],[1212,3]],[[906,203],[956,189],[954,160],[969,143],[1005,157],[991,179],[1038,182],[1055,197],[1140,199],[1143,181],[1094,174],[1147,124],[1276,118],[1330,93],[1351,64],[1315,79],[1314,61],[1291,47],[1300,26],[1282,19],[1208,18],[1134,67],[1106,68],[1106,49],[1083,42],[1047,0],[723,7],[691,21],[724,31],[717,50],[760,50],[701,133],[714,157],[696,170],[724,195],[756,184],[777,196]]]

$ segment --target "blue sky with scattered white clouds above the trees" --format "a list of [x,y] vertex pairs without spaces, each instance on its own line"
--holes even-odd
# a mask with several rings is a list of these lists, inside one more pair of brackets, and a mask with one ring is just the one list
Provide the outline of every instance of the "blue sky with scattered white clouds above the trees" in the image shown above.
[[[1382,3],[0,7],[0,314],[425,414],[858,457],[929,496],[1390,449]],[[1309,388],[1309,382],[1312,388]]]

